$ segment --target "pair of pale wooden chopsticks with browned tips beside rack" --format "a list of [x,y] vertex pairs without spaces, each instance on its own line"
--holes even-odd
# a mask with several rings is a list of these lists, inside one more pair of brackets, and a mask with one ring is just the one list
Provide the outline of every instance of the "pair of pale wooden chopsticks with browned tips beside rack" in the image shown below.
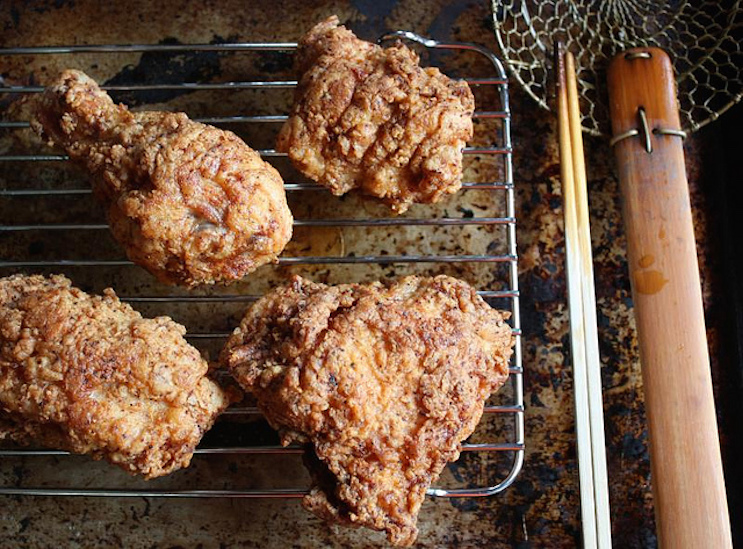
[[583,546],[608,549],[611,547],[611,519],[601,359],[578,84],[573,55],[565,52],[561,44],[557,45],[555,55]]

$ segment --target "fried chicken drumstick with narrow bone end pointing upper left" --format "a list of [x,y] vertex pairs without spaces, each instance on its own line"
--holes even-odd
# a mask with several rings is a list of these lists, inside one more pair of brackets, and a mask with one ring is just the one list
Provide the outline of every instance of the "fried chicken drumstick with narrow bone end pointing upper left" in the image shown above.
[[240,279],[291,238],[281,176],[232,132],[130,112],[76,70],[47,88],[31,124],[87,168],[114,237],[164,282]]

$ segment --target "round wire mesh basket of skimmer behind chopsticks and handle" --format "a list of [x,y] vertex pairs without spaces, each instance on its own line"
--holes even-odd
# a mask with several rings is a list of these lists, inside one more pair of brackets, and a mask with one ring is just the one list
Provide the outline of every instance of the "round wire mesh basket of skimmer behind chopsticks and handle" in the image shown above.
[[583,129],[610,133],[606,67],[631,47],[659,47],[671,56],[681,125],[695,131],[743,96],[740,0],[492,0],[502,58],[524,89],[549,109],[553,47],[576,57]]

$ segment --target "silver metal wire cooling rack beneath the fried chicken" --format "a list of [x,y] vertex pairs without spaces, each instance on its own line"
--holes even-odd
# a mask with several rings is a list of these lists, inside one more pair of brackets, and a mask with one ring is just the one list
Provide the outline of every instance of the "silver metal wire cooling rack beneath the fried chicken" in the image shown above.
[[[516,347],[510,367],[512,384],[512,398],[508,404],[489,405],[485,408],[486,414],[496,414],[504,421],[512,422],[512,439],[500,440],[491,443],[467,443],[463,445],[464,452],[507,452],[511,455],[511,465],[507,473],[497,483],[488,486],[475,486],[467,488],[431,488],[429,495],[440,497],[466,497],[466,496],[488,496],[496,494],[508,487],[518,475],[524,458],[524,403],[523,403],[523,370],[521,357],[521,328],[519,316],[519,289],[516,253],[516,215],[514,200],[512,146],[510,134],[510,109],[508,101],[508,82],[505,71],[500,61],[487,49],[470,43],[442,43],[429,40],[412,34],[410,32],[396,32],[382,37],[380,40],[403,39],[415,43],[427,50],[442,50],[449,54],[461,54],[463,52],[474,53],[484,57],[489,66],[492,66],[493,76],[484,78],[467,78],[473,87],[492,86],[496,90],[497,105],[495,108],[484,108],[485,105],[478,104],[475,111],[475,119],[496,119],[500,121],[494,136],[495,142],[492,146],[467,147],[465,155],[491,155],[492,158],[502,162],[502,180],[498,181],[465,181],[463,191],[489,191],[497,193],[502,200],[505,215],[499,217],[422,217],[422,218],[365,218],[365,219],[297,219],[295,227],[411,227],[411,226],[468,226],[468,225],[498,225],[505,229],[506,253],[488,254],[446,254],[446,255],[408,255],[408,254],[383,254],[374,253],[361,256],[345,255],[337,257],[325,256],[282,256],[279,258],[280,266],[288,265],[322,265],[322,264],[411,264],[426,263],[444,265],[452,263],[484,263],[505,265],[507,269],[507,287],[505,289],[481,289],[479,294],[485,299],[507,300],[511,311],[511,325],[516,336]],[[235,43],[235,44],[158,44],[158,45],[94,45],[94,46],[52,46],[52,47],[25,47],[0,49],[0,59],[4,56],[44,56],[44,55],[75,55],[79,53],[110,54],[110,53],[144,53],[144,52],[197,52],[212,51],[222,53],[237,52],[290,52],[296,48],[294,43]],[[296,85],[291,80],[275,81],[233,81],[225,83],[191,83],[180,82],[176,84],[145,84],[145,85],[117,85],[103,86],[108,91],[143,91],[143,90],[242,90],[242,89],[276,89],[292,88]],[[39,86],[9,86],[0,85],[0,94],[33,94],[43,91]],[[0,96],[1,97],[1,96]],[[6,95],[6,97],[8,97]],[[286,115],[240,115],[240,116],[212,116],[194,118],[194,120],[209,124],[268,124],[283,122]],[[28,127],[24,120],[0,121],[0,131],[15,131]],[[279,158],[283,155],[273,149],[259,151],[268,159]],[[5,154],[0,155],[0,162],[17,164],[19,173],[22,173],[24,165],[31,162],[66,162],[67,157],[59,154]],[[287,192],[321,190],[321,187],[311,183],[288,182],[285,185]],[[87,188],[54,189],[54,188],[31,188],[27,186],[9,186],[7,182],[0,184],[0,200],[13,200],[17,198],[42,199],[56,196],[76,196],[85,198],[91,194]],[[100,223],[75,223],[75,224],[21,224],[3,221],[0,225],[0,236],[3,234],[21,234],[37,232],[51,235],[56,232],[84,231],[96,234],[99,231],[107,231],[108,226]],[[54,268],[64,271],[73,267],[126,267],[131,262],[126,260],[109,259],[28,259],[24,257],[0,258],[0,275],[10,272],[19,272],[33,269]],[[215,294],[215,295],[130,295],[122,297],[122,300],[130,303],[162,303],[172,304],[196,304],[196,303],[249,303],[257,299],[257,295],[243,295],[239,293]],[[214,340],[223,339],[227,332],[194,332],[187,336],[192,340]],[[259,412],[252,406],[232,407],[225,412],[225,416],[251,416]],[[280,446],[224,446],[224,447],[199,447],[197,455],[261,455],[261,454],[297,454],[302,453],[301,448]],[[10,457],[35,458],[40,456],[67,456],[66,452],[48,449],[28,448],[5,448],[0,449],[0,470],[3,467],[3,459]],[[109,489],[109,488],[79,488],[79,487],[25,487],[25,486],[0,486],[0,495],[37,495],[37,496],[88,496],[88,497],[301,497],[306,489],[269,489],[269,490],[143,490],[143,489]]]

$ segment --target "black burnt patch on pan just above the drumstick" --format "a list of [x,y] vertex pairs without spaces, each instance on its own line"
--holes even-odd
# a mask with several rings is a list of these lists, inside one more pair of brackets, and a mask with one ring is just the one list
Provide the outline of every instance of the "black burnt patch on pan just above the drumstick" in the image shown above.
[[[210,44],[234,42],[235,37],[215,35]],[[159,44],[182,44],[176,38],[165,38]],[[217,51],[153,51],[144,52],[136,65],[127,65],[106,86],[182,84],[184,82],[212,82],[221,74],[220,59],[228,52]],[[165,103],[191,90],[111,91],[117,103],[129,106]]]

